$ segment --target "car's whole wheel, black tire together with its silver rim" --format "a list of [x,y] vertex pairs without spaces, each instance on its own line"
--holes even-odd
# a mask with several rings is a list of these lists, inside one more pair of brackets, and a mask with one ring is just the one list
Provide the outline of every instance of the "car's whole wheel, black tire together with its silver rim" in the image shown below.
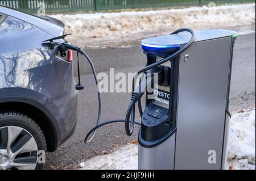
[[39,150],[46,155],[46,138],[34,120],[19,112],[0,112],[0,170],[43,169]]

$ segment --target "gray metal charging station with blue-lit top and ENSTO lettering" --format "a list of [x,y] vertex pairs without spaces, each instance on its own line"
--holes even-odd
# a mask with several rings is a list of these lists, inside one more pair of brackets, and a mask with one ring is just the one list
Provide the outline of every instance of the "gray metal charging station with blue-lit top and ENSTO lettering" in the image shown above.
[[[203,30],[195,36],[187,50],[159,65],[167,70],[166,80],[146,93],[139,169],[225,169],[237,32]],[[147,65],[170,56],[189,39],[185,32],[142,40]]]

